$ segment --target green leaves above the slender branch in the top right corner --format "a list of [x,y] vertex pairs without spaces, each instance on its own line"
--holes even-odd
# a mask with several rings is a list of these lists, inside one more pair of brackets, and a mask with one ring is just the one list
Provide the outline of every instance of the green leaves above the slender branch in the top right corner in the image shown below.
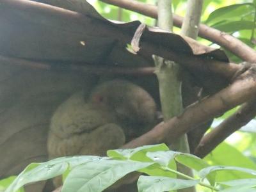
[[[255,47],[255,15],[256,6],[253,0],[252,3],[232,4],[218,8],[209,15],[205,23],[212,28],[234,34],[248,46]],[[234,54],[226,52],[231,60],[241,61]]]

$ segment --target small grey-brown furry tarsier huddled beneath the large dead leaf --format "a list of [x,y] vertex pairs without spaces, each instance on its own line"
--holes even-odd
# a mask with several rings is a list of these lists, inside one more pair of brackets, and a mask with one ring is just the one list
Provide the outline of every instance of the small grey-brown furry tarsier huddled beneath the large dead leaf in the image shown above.
[[47,142],[49,157],[104,156],[154,124],[156,104],[143,88],[128,81],[106,81],[88,96],[75,93],[56,109]]

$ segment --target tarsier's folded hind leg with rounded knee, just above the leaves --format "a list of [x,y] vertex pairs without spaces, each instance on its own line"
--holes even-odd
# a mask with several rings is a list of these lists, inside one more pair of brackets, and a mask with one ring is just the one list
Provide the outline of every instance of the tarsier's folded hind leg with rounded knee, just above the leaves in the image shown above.
[[[57,141],[57,142],[56,142]],[[55,134],[49,134],[49,158],[61,156],[90,155],[106,156],[108,149],[119,148],[125,143],[125,135],[116,124],[106,124],[89,133],[74,134],[70,138],[60,139]],[[62,178],[53,179],[54,186],[62,184]]]

